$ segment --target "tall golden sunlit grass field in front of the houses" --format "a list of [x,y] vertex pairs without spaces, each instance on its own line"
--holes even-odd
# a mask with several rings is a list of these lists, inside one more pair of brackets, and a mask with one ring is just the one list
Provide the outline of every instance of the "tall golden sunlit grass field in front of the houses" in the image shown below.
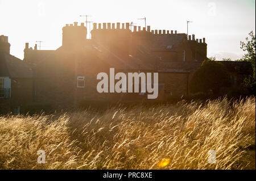
[[255,169],[255,98],[2,116],[0,169]]

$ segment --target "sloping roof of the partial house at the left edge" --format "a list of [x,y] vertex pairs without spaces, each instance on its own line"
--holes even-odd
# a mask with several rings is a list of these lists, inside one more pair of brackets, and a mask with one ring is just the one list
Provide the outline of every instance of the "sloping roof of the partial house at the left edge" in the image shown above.
[[0,76],[32,78],[30,65],[8,53],[0,52]]

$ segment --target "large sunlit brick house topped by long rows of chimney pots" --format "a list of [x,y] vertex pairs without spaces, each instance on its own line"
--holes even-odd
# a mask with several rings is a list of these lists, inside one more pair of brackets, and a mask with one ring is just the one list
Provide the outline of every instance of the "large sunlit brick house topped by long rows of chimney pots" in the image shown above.
[[77,107],[86,100],[146,99],[139,93],[98,93],[100,72],[159,73],[159,96],[189,94],[189,81],[207,58],[205,38],[177,31],[150,30],[129,23],[94,23],[86,39],[84,23],[63,27],[62,46],[56,50],[24,49],[24,62],[32,66],[33,100],[55,108]]

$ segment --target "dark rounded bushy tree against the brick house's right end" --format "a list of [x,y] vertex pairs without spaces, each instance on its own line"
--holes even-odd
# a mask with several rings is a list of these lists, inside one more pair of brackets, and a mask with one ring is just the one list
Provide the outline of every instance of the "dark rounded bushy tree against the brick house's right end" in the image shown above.
[[229,86],[228,71],[218,61],[205,60],[191,79],[192,92],[209,92],[218,94],[221,87]]

